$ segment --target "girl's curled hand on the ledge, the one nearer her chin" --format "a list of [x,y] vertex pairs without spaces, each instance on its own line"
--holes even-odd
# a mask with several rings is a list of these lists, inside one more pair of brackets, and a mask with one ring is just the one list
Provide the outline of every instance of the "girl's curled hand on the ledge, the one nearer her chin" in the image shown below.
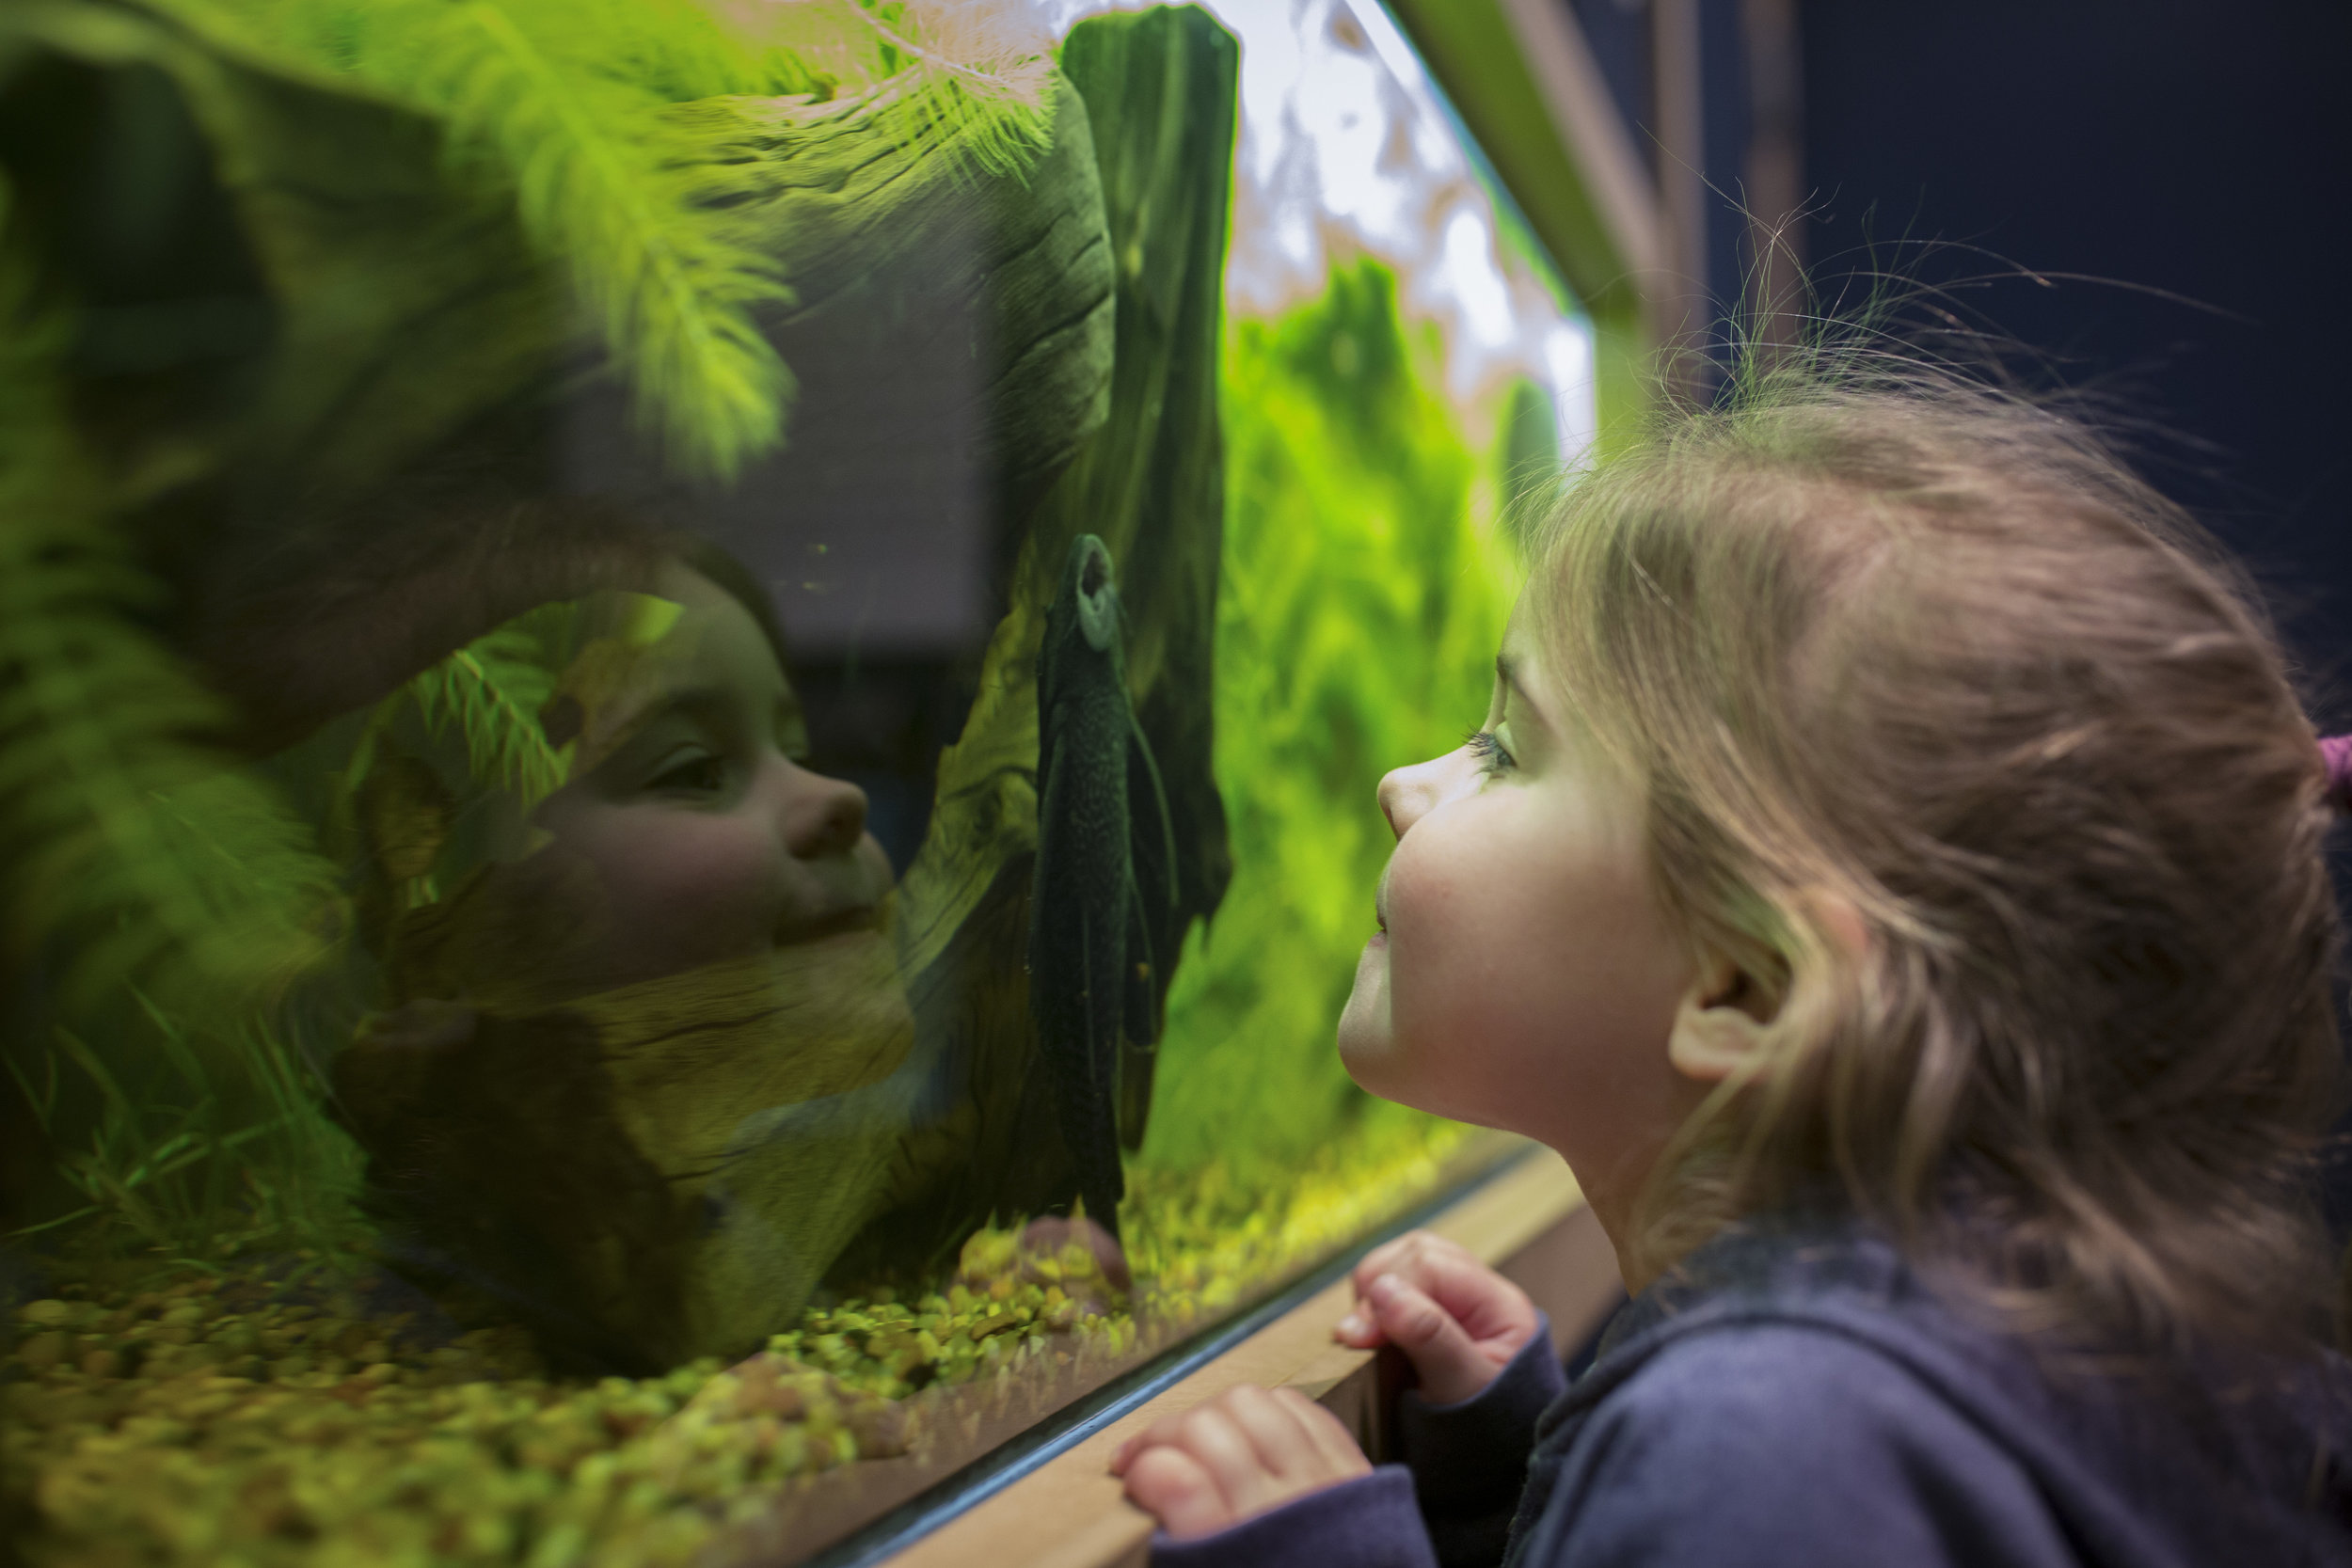
[[1536,1302],[1465,1248],[1425,1229],[1364,1253],[1341,1345],[1395,1345],[1437,1406],[1470,1399],[1536,1338]]

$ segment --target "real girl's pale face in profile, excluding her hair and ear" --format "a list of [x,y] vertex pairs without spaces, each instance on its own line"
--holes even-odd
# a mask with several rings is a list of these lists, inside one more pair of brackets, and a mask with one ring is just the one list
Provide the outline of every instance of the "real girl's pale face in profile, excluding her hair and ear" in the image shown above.
[[1381,780],[1397,849],[1338,1046],[1371,1093],[1541,1138],[1592,1192],[1689,1110],[1665,1046],[1696,964],[1639,792],[1578,733],[1524,607],[1496,670],[1468,745]]

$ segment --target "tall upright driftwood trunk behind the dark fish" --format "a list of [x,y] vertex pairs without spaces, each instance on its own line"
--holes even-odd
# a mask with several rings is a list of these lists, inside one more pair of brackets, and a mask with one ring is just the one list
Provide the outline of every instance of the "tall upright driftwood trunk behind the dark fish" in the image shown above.
[[1200,9],[1098,16],[1063,73],[1087,101],[1117,259],[1110,416],[1030,517],[981,693],[938,764],[929,839],[908,870],[908,969],[936,1114],[910,1131],[910,1199],[858,1262],[953,1246],[990,1213],[1080,1192],[1028,1006],[1037,851],[1037,651],[1080,534],[1117,562],[1127,693],[1167,790],[1176,898],[1150,947],[1152,1011],[1192,922],[1230,879],[1211,773],[1216,574],[1223,538],[1218,331],[1240,49]]

